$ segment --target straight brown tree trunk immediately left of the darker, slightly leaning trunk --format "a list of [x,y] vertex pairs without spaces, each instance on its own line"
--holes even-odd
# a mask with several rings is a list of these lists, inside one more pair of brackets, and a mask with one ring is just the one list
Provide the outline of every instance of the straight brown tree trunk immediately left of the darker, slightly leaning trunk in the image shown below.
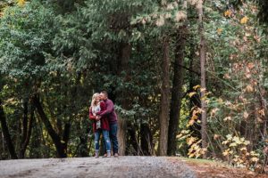
[[163,38],[163,63],[162,63],[162,86],[160,103],[160,136],[159,155],[167,155],[168,128],[169,128],[169,93],[170,93],[170,56],[169,37]]

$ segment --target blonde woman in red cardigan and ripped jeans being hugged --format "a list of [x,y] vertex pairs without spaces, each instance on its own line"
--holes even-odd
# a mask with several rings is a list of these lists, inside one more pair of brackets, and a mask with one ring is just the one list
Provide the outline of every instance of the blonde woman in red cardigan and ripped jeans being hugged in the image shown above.
[[107,117],[97,117],[96,113],[106,109],[105,102],[99,100],[99,93],[92,96],[91,106],[89,108],[89,118],[93,120],[93,131],[95,133],[95,158],[99,157],[99,138],[102,133],[105,138],[105,147],[107,157],[111,157],[111,142],[109,137],[109,122]]

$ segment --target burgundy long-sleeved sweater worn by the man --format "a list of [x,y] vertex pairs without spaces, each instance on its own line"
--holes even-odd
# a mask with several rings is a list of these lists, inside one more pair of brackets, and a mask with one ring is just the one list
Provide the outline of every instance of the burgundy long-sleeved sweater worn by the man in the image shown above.
[[110,125],[117,123],[117,115],[114,110],[113,101],[107,99],[105,100],[105,104],[106,104],[106,109],[101,110],[100,112],[96,114],[101,117],[108,117]]

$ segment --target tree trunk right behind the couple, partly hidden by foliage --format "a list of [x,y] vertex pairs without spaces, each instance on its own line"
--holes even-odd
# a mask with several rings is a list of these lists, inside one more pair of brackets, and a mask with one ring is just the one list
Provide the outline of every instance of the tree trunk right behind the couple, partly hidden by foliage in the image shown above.
[[[124,78],[125,81],[129,80],[129,61],[131,55],[131,44],[122,43],[121,44],[121,64],[119,72],[125,71],[126,76]],[[121,107],[123,109],[130,109],[130,98],[125,91],[121,93]],[[119,116],[118,117],[118,142],[119,142],[119,154],[125,155],[126,151],[126,131],[127,131],[127,121],[126,118]]]

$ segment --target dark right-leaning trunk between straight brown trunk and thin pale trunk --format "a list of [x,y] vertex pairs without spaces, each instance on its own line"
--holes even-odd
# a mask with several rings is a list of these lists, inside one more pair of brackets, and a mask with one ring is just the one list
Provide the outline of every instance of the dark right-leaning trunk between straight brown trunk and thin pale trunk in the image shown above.
[[172,81],[172,103],[171,113],[169,121],[169,136],[168,136],[168,155],[172,156],[176,153],[176,135],[178,134],[179,122],[180,122],[180,103],[182,97],[182,85],[183,85],[183,60],[185,50],[185,32],[186,26],[181,26],[180,31],[176,37],[176,51],[174,61],[174,76]]

